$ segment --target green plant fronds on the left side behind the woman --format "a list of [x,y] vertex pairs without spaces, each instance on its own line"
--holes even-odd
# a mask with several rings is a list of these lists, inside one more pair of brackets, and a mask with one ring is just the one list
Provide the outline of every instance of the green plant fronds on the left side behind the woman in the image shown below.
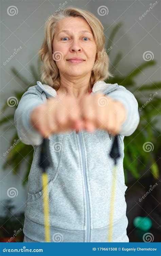
[[[41,66],[41,61],[40,59],[38,59],[38,70],[35,69],[35,66],[31,65],[30,66],[30,70],[31,73],[33,75],[33,81],[30,82],[28,81],[24,76],[22,76],[15,68],[12,68],[11,71],[13,72],[13,74],[16,76],[16,78],[19,80],[19,83],[21,84],[21,86],[24,86],[24,90],[21,92],[15,91],[14,92],[14,97],[17,98],[18,102],[20,101],[22,95],[24,94],[25,91],[28,90],[28,88],[30,86],[34,86],[36,84],[36,81],[40,80],[39,74],[40,74],[40,66]],[[12,105],[12,103],[11,103]],[[10,109],[10,114],[3,114],[3,112],[7,111],[8,109]],[[3,117],[0,120],[0,125],[6,125],[4,130],[8,130],[8,129],[12,129],[14,126],[14,113],[16,110],[16,105],[12,106],[12,114],[11,114],[11,106],[8,106],[7,101],[4,104],[1,113],[3,114]],[[11,125],[12,124],[12,125]],[[17,136],[17,132],[14,132],[14,135],[12,137],[12,139],[10,140],[11,143],[11,147],[13,146],[12,150],[7,154],[6,160],[2,166],[2,168],[5,170],[8,165],[11,166],[11,168],[13,168],[13,174],[17,174],[20,171],[20,167],[21,167],[21,163],[24,161],[24,159],[28,162],[27,166],[26,166],[26,172],[25,172],[25,176],[23,178],[22,181],[22,185],[25,186],[25,184],[28,181],[28,176],[30,173],[30,168],[31,168],[31,164],[32,164],[32,160],[33,160],[33,147],[31,145],[25,145],[23,144],[21,141],[18,143],[15,143],[16,145],[14,145],[14,142],[17,142],[18,140],[18,136]]]

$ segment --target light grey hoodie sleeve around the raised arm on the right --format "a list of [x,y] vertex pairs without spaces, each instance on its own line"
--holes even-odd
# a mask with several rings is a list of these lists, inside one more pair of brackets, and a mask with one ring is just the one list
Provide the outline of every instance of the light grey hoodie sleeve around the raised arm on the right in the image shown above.
[[130,136],[137,129],[140,122],[138,102],[135,96],[122,85],[119,85],[119,88],[109,93],[108,96],[120,101],[125,106],[127,117],[119,134]]

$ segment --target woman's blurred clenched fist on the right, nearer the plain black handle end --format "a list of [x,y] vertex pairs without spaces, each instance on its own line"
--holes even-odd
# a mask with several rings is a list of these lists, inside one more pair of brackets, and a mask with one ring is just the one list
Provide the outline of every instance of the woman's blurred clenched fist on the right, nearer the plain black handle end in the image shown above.
[[94,131],[103,129],[113,135],[118,134],[127,113],[124,105],[112,98],[95,93],[80,100],[84,129]]

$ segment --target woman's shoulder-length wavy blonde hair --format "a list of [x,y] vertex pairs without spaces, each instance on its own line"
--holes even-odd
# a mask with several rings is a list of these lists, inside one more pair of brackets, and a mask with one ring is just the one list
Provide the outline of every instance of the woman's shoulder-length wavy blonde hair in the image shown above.
[[91,71],[90,84],[93,84],[99,80],[108,79],[113,75],[109,72],[109,58],[105,51],[105,36],[103,33],[104,27],[100,20],[92,13],[79,9],[68,7],[64,10],[60,10],[52,14],[47,20],[44,27],[44,41],[38,52],[42,65],[41,80],[53,87],[55,90],[60,88],[60,75],[59,69],[56,66],[55,60],[52,58],[53,54],[53,38],[57,23],[66,17],[83,17],[92,29],[94,40],[96,44],[96,60]]

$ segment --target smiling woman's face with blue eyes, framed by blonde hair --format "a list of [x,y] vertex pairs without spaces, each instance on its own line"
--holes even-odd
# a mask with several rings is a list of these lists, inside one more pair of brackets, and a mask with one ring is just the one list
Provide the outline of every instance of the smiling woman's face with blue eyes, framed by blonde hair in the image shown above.
[[[96,44],[92,30],[84,18],[67,17],[57,24],[53,53],[60,76],[91,75],[96,59]],[[74,57],[82,58],[83,61],[69,61]]]

